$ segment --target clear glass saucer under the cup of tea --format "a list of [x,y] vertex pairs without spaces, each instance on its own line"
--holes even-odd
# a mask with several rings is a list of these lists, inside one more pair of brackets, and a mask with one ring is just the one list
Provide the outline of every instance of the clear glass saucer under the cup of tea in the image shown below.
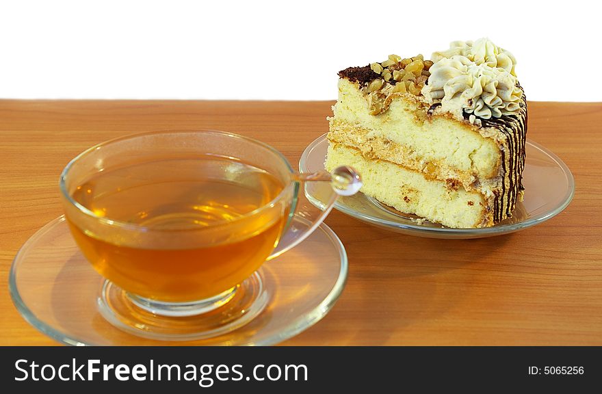
[[[309,222],[296,216],[294,226]],[[68,345],[272,345],[322,319],[347,279],[347,254],[337,235],[320,225],[301,244],[258,271],[269,294],[250,323],[194,341],[157,341],[122,331],[99,312],[104,279],[77,248],[63,216],[42,227],[19,250],[10,294],[35,328]]]

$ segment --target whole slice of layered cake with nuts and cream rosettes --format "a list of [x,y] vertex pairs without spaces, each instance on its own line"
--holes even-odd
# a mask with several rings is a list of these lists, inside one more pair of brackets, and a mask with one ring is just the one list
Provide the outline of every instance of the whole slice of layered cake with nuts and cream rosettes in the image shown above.
[[527,102],[511,53],[482,38],[339,72],[326,169],[361,191],[454,228],[488,227],[522,199]]

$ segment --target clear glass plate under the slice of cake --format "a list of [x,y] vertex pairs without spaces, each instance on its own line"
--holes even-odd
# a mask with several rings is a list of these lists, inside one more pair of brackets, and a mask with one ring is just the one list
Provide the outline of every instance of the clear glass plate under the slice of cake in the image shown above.
[[[326,134],[318,137],[304,150],[299,161],[300,172],[324,170],[328,140]],[[369,224],[398,233],[428,238],[469,239],[493,237],[514,233],[534,226],[562,212],[575,194],[573,174],[564,162],[549,150],[527,140],[525,170],[523,171],[525,200],[514,209],[514,216],[488,228],[449,228],[422,220],[416,215],[402,213],[358,192],[341,196],[335,209]],[[321,204],[320,185],[307,185],[306,196],[316,205]]]

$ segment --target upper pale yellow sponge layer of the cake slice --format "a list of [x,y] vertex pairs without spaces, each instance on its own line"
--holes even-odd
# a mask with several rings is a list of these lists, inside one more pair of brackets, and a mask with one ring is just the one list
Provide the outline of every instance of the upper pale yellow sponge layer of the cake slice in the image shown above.
[[[427,116],[426,108],[407,96],[392,96],[389,109],[374,116],[358,84],[339,79],[339,100],[332,109],[330,140],[358,147],[390,141],[394,157],[381,158],[421,172],[428,172],[431,163],[430,168],[441,173],[439,179],[455,177],[465,187],[499,176],[501,156],[495,138],[484,137],[467,122]],[[347,134],[350,130],[352,135]]]

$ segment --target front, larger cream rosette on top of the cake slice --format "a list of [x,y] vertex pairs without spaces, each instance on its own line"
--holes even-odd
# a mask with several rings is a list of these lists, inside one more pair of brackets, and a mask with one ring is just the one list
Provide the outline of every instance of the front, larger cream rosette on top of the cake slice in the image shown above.
[[430,68],[422,94],[429,103],[463,118],[462,111],[483,119],[499,118],[519,109],[523,90],[504,68],[476,64],[463,55],[442,58]]

